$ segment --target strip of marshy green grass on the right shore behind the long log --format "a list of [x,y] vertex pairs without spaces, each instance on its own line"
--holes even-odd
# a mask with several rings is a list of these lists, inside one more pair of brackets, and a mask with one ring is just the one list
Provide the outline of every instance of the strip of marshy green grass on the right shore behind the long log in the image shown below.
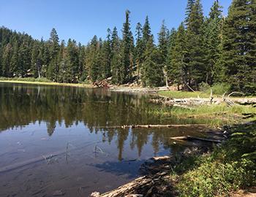
[[[245,120],[253,120],[256,115],[256,108],[252,106],[233,105],[228,107],[225,104],[200,105],[191,109],[181,107],[151,107],[149,112],[152,115],[159,115],[162,118],[172,117],[186,123],[202,123],[213,126],[226,124],[243,123]],[[246,118],[244,114],[252,114]]]

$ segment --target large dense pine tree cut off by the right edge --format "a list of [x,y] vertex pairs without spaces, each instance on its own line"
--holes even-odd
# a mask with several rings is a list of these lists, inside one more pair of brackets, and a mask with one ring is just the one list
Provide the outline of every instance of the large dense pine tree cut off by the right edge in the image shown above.
[[222,66],[233,90],[256,93],[256,1],[233,0],[225,19]]

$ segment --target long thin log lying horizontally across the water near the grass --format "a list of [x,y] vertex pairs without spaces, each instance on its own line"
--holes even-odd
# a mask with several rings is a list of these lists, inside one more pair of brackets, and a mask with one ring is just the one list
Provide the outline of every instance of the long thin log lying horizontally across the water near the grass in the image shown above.
[[99,128],[176,128],[176,127],[206,127],[206,124],[185,124],[185,125],[121,125],[121,126],[103,126]]

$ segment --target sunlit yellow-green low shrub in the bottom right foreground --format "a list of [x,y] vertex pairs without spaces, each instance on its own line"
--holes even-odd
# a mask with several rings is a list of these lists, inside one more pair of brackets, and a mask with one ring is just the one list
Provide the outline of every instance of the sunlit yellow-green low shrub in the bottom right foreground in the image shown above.
[[180,196],[229,196],[230,191],[252,185],[255,179],[253,165],[246,159],[225,164],[205,162],[181,177]]

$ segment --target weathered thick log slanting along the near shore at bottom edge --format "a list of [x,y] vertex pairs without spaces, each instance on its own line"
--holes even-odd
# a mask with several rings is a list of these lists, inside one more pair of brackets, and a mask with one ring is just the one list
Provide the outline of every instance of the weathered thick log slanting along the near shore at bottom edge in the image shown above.
[[123,197],[123,196],[140,196],[140,192],[147,193],[146,191],[152,188],[154,185],[154,180],[159,180],[162,177],[167,176],[169,173],[168,171],[155,174],[152,176],[144,176],[138,179],[135,179],[132,182],[129,182],[126,185],[122,185],[121,187],[117,188],[116,190],[112,190],[107,193],[99,194],[99,193],[92,193],[91,197]]

